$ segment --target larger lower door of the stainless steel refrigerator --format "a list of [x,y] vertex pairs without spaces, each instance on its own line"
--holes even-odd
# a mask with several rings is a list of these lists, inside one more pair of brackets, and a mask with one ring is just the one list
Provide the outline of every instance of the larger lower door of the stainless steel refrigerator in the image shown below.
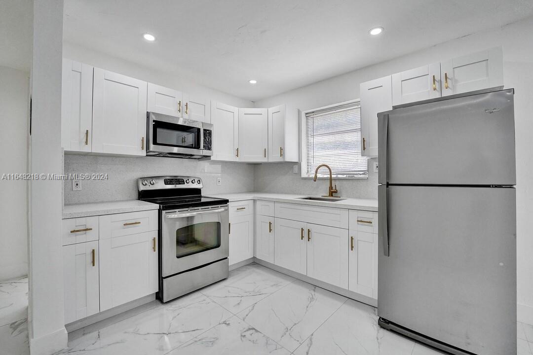
[[386,203],[378,316],[475,354],[515,354],[515,189],[389,186]]

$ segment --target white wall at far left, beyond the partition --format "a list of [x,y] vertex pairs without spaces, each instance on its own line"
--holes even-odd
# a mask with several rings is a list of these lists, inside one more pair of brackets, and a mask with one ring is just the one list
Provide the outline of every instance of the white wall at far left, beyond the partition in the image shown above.
[[[27,172],[29,73],[0,67],[0,174]],[[0,280],[28,274],[28,184],[0,180]]]

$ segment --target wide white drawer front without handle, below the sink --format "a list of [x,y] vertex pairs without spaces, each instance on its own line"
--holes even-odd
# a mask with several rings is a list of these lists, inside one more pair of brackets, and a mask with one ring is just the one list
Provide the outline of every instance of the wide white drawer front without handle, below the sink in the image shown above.
[[274,203],[276,217],[348,229],[348,210],[297,203]]

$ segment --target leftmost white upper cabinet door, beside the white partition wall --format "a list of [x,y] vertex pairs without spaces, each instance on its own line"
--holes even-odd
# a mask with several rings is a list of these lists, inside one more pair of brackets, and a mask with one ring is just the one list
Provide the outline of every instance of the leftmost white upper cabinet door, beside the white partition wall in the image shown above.
[[93,135],[93,67],[63,59],[61,146],[90,152]]

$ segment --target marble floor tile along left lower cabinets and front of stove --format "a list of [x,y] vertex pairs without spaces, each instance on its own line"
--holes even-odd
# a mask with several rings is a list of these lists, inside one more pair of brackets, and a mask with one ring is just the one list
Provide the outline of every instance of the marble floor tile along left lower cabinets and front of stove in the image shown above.
[[165,354],[232,316],[194,293],[85,334],[60,353]]

